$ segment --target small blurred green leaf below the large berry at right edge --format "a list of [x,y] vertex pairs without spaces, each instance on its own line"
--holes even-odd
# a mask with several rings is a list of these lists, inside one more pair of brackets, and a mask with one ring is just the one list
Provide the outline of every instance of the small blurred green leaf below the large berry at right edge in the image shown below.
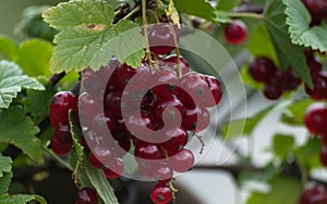
[[310,169],[322,167],[320,163],[322,142],[317,137],[308,138],[307,142],[294,150],[294,157],[302,166],[307,166]]

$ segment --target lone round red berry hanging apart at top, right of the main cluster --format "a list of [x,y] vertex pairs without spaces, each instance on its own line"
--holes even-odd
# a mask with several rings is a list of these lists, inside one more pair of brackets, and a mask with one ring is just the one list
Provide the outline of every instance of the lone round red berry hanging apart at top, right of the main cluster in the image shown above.
[[240,44],[243,43],[247,36],[246,25],[239,21],[233,20],[223,28],[223,37],[228,43]]

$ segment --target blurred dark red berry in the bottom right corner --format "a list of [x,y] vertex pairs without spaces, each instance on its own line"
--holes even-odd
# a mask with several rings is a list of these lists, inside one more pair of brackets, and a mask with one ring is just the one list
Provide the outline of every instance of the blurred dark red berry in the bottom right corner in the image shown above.
[[312,188],[301,193],[299,204],[324,204],[327,203],[327,194],[322,188]]

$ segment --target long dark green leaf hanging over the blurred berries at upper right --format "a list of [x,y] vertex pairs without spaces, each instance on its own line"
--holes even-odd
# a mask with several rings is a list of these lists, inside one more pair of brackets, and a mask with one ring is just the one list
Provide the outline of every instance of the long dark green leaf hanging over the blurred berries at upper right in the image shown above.
[[268,0],[265,9],[265,25],[278,56],[281,69],[291,67],[310,87],[313,86],[310,69],[301,47],[292,43],[286,25],[286,10],[281,0]]

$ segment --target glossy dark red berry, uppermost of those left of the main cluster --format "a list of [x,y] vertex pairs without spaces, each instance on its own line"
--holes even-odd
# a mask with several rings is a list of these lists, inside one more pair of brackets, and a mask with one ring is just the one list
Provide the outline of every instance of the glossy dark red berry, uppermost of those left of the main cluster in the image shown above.
[[50,123],[56,127],[59,123],[69,124],[69,110],[77,112],[77,99],[70,91],[60,91],[50,102]]

